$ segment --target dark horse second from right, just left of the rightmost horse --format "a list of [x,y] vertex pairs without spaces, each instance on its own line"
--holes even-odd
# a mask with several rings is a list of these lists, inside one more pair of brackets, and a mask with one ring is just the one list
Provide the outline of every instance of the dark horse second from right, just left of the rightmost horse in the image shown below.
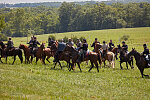
[[119,58],[120,58],[120,68],[123,69],[121,64],[123,62],[125,62],[127,69],[128,69],[128,63],[131,66],[131,69],[134,69],[133,57],[128,58],[128,54],[125,52],[125,50],[120,45],[118,45],[118,50],[119,50],[119,53],[120,53],[120,56],[119,56]]

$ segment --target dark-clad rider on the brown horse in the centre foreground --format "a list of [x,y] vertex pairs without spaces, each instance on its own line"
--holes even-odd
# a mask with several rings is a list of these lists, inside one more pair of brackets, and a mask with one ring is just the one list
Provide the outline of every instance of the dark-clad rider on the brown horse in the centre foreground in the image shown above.
[[83,45],[82,45],[82,47],[79,48],[79,51],[80,51],[80,49],[82,49],[82,51],[80,52],[80,57],[79,57],[78,60],[77,60],[78,62],[83,61],[84,58],[85,58],[85,55],[86,55],[86,53],[87,53],[88,44],[87,44],[87,42],[86,42],[86,39],[83,39]]

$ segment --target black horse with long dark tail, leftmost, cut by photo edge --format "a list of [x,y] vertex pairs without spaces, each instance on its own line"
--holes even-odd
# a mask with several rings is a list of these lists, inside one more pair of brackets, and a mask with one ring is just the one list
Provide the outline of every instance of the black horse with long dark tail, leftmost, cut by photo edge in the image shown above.
[[7,64],[7,57],[8,56],[14,56],[14,61],[12,63],[12,64],[14,64],[17,55],[18,55],[21,63],[23,62],[22,51],[19,48],[14,47],[8,51],[6,45],[2,41],[0,42],[0,46],[1,46],[1,48],[0,48],[0,52],[1,52],[0,61],[1,61],[1,63],[3,63],[1,58],[6,58],[6,64]]

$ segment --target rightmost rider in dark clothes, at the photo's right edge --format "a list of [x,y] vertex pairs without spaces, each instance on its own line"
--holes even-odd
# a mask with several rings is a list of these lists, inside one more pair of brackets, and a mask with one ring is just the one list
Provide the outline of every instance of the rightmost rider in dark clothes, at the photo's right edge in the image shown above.
[[146,44],[143,44],[144,51],[142,53],[143,57],[145,58],[146,62],[148,63],[148,66],[150,66],[150,54],[149,49],[147,48]]

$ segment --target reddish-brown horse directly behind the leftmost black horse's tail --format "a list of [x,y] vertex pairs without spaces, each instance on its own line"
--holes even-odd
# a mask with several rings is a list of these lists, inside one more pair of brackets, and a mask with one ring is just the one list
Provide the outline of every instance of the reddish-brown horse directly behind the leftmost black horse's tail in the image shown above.
[[24,44],[20,44],[19,46],[20,49],[23,49],[24,51],[24,56],[25,56],[25,63],[30,63],[30,56],[32,58],[33,54],[30,53],[30,49],[28,48],[28,46],[24,45]]

